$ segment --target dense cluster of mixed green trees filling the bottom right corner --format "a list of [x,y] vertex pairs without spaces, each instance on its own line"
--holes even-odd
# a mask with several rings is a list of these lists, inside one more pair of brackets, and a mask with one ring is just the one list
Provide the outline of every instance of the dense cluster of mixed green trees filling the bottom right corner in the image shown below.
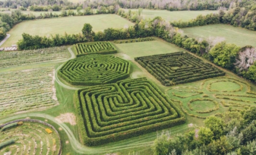
[[155,139],[155,155],[242,155],[256,154],[256,107],[245,112],[226,112],[211,116],[195,133],[170,138],[162,133]]

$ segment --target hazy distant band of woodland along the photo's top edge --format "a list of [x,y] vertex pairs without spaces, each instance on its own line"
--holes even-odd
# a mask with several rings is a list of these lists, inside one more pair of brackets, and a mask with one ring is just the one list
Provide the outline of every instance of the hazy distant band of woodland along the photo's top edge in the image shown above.
[[91,1],[81,1],[80,4],[73,4],[67,0],[52,1],[52,0],[7,0],[0,2],[0,6],[9,8],[29,8],[34,5],[40,5],[37,7],[39,10],[46,10],[47,6],[59,6],[65,7],[65,9],[76,9],[77,7],[86,8],[98,8],[98,7],[109,7],[119,5],[122,8],[145,8],[145,9],[166,9],[166,10],[217,10],[220,7],[234,8],[234,7],[252,7],[255,6],[255,1],[253,0],[222,0],[222,1],[212,1],[212,0],[91,0]]

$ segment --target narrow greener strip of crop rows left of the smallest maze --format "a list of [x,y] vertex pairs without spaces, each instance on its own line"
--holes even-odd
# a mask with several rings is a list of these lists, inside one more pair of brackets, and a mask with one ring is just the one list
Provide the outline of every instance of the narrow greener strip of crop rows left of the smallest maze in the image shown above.
[[0,52],[0,68],[61,60],[68,57],[69,53],[64,46],[38,50]]

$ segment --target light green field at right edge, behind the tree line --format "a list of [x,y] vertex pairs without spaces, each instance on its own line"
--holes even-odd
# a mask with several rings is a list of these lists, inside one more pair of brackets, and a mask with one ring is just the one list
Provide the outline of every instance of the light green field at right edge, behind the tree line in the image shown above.
[[239,46],[252,45],[256,47],[256,32],[245,28],[225,24],[182,28],[185,35],[192,38],[224,37],[227,43]]

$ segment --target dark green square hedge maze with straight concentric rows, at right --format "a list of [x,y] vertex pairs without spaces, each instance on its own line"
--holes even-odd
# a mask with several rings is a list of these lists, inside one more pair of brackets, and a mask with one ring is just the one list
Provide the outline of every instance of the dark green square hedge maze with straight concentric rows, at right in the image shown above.
[[189,53],[152,55],[135,60],[165,86],[225,75],[225,72]]

